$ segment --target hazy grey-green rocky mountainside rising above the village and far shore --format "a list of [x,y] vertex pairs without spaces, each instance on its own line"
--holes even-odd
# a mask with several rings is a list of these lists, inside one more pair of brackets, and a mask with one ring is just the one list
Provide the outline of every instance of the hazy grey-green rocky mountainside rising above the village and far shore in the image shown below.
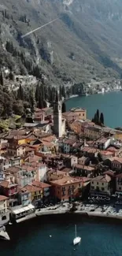
[[119,77],[121,13],[120,0],[1,0],[0,61],[16,72],[44,73],[54,84]]

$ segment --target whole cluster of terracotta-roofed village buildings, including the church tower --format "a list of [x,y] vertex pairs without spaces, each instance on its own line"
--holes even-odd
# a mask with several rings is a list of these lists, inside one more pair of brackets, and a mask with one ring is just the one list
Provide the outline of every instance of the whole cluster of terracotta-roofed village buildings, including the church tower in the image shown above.
[[0,133],[0,223],[57,202],[120,203],[122,132],[87,120],[86,109],[35,108],[23,128]]

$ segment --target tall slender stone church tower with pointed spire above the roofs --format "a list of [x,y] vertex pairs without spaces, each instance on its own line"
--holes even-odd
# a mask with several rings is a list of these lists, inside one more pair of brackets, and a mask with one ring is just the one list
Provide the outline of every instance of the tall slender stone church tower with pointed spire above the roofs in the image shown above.
[[62,136],[62,113],[61,113],[61,101],[59,99],[58,92],[54,102],[54,134],[57,137]]

